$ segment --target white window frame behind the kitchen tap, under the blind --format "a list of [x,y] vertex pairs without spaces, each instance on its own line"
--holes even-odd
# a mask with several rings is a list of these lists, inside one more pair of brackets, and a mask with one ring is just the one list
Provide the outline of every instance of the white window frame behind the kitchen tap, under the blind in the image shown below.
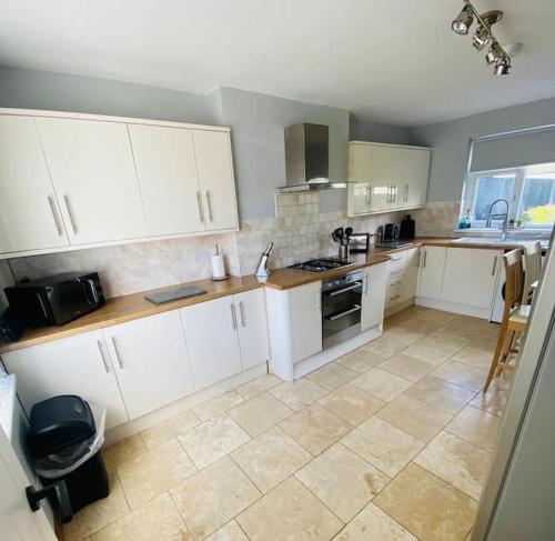
[[[487,171],[476,171],[468,173],[468,182],[466,197],[464,198],[463,206],[461,208],[461,216],[465,216],[466,209],[471,209],[471,216],[474,214],[474,206],[476,203],[476,188],[477,188],[477,179],[480,177],[487,176],[496,176],[496,174],[514,174],[515,176],[515,187],[512,200],[508,206],[508,217],[507,221],[514,220],[516,222],[518,218],[518,210],[521,208],[522,196],[524,191],[524,180],[526,178],[526,167],[517,167],[517,168],[507,168],[507,169],[491,169]],[[492,201],[493,202],[493,201]],[[501,206],[501,203],[497,203]],[[464,208],[463,208],[464,207]],[[496,209],[494,209],[496,210]],[[502,220],[492,220],[492,228],[501,227]],[[551,230],[553,228],[553,223],[533,223],[525,222],[523,224],[524,229],[542,229],[542,230]],[[485,229],[486,220],[473,220],[472,219],[472,229]]]

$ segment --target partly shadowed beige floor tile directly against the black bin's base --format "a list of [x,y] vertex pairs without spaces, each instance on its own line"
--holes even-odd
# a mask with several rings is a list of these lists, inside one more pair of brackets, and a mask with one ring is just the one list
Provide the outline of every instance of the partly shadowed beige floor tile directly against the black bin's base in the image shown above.
[[129,507],[114,470],[109,473],[110,495],[81,509],[63,527],[67,541],[80,541],[129,512]]

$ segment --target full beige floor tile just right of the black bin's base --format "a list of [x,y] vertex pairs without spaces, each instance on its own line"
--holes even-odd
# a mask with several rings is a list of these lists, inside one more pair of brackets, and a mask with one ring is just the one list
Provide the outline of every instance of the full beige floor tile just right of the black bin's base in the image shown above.
[[176,440],[147,451],[118,467],[118,475],[131,509],[175,487],[196,473]]

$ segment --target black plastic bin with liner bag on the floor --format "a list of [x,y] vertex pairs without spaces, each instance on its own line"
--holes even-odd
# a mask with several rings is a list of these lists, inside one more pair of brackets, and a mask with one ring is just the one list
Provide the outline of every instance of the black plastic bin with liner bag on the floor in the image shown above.
[[[27,445],[43,484],[63,480],[73,513],[107,498],[108,474],[90,405],[72,394],[54,397],[31,409]],[[84,459],[84,460],[83,460]]]

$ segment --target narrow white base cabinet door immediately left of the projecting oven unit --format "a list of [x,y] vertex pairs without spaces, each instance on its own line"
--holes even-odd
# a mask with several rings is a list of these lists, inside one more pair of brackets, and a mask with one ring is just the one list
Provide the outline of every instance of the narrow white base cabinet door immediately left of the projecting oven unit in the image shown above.
[[266,307],[264,289],[253,289],[233,295],[239,317],[239,344],[243,370],[270,358],[268,345]]

